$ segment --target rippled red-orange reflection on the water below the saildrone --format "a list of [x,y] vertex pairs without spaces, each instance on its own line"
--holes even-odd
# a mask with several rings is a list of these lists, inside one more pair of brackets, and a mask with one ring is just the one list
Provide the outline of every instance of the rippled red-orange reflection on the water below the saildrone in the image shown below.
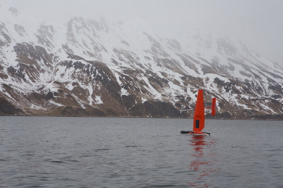
[[196,175],[189,177],[190,181],[188,181],[188,185],[196,188],[209,188],[205,177],[218,170],[212,168],[212,164],[217,162],[217,160],[213,160],[213,156],[216,155],[213,152],[215,141],[210,137],[192,135],[189,144],[192,147],[192,151],[190,152],[191,161],[188,169],[195,171]]

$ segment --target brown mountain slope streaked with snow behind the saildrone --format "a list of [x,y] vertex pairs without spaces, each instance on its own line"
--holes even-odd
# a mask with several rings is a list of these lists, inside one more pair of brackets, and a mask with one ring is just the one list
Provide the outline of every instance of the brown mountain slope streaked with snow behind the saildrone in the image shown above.
[[217,118],[283,119],[283,68],[238,39],[165,38],[142,17],[46,22],[0,4],[1,115],[187,117],[200,88]]

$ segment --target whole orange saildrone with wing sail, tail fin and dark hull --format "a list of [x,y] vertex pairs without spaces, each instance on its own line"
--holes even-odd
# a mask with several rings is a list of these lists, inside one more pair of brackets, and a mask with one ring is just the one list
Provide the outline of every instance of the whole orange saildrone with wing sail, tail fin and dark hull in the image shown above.
[[[198,97],[197,97],[197,103],[195,109],[189,109],[189,110],[195,110],[193,131],[181,131],[181,134],[195,134],[195,135],[209,136],[210,133],[202,132],[202,129],[204,128],[204,120],[205,120],[204,109],[211,108],[211,115],[215,116],[215,106],[216,106],[216,98],[212,98],[212,105],[210,107],[204,107],[203,90],[200,89],[198,91]],[[180,111],[182,112],[188,110],[180,110]]]

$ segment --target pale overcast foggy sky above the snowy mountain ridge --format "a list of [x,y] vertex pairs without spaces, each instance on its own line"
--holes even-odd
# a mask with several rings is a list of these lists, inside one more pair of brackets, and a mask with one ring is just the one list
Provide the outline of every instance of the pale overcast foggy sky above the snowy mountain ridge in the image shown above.
[[283,0],[0,0],[45,20],[72,16],[142,16],[177,34],[186,28],[218,31],[283,65]]

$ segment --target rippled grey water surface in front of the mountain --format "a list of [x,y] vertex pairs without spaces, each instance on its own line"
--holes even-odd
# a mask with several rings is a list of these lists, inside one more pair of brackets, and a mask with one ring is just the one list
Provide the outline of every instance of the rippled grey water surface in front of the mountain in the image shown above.
[[283,188],[283,121],[0,117],[3,188]]

